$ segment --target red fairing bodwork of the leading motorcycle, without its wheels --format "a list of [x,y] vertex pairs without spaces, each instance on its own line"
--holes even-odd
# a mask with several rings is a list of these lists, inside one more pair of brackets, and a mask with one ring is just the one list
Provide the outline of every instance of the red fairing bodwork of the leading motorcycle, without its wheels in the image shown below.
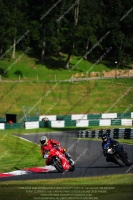
[[49,152],[49,157],[48,157],[49,162],[51,161],[51,159],[53,157],[60,158],[60,160],[62,162],[62,167],[64,170],[70,169],[71,166],[70,166],[68,160],[66,159],[65,155],[62,152],[60,152],[59,150],[56,150],[55,148],[52,148]]

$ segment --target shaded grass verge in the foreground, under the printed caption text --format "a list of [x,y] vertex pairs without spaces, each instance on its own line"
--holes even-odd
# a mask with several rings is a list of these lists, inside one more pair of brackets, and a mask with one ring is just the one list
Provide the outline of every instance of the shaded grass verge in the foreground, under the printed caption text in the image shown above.
[[[89,199],[98,200],[132,199],[133,175],[110,175],[102,177],[63,178],[51,180],[6,181],[0,182],[2,200],[33,200],[33,199]],[[86,188],[86,189],[85,189]],[[85,192],[86,191],[86,192]],[[93,192],[96,191],[96,192]],[[103,192],[104,191],[104,192]],[[55,194],[58,198],[55,197]],[[60,197],[59,197],[60,194]],[[74,197],[74,194],[79,194]],[[84,194],[84,196],[83,196]],[[64,196],[64,198],[61,198]],[[86,197],[86,198],[85,198]]]

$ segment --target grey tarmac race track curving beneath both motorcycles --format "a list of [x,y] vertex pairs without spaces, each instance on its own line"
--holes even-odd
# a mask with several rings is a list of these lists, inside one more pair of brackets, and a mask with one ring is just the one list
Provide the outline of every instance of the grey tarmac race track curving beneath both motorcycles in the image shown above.
[[[34,133],[17,135],[23,139],[39,144],[40,137],[44,133]],[[75,161],[75,171],[59,173],[51,171],[47,173],[33,173],[1,178],[0,181],[7,180],[31,180],[31,179],[56,179],[56,178],[74,178],[74,177],[94,177],[112,174],[133,173],[133,165],[120,167],[111,162],[106,162],[103,156],[101,144],[102,141],[78,140],[75,132],[46,133],[49,139],[55,139],[60,142],[61,147],[67,148],[68,153]],[[133,145],[123,144],[128,156],[133,163]],[[40,152],[41,157],[41,152]]]

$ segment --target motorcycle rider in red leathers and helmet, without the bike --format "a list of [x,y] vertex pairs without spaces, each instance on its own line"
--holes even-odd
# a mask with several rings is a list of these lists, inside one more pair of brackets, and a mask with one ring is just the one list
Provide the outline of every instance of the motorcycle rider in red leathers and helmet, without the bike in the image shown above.
[[46,136],[42,136],[40,139],[42,157],[46,159],[46,165],[50,165],[50,159],[48,158],[48,152],[55,147],[60,152],[64,153],[67,158],[71,156],[66,152],[66,149],[60,147],[60,143],[53,139],[48,139]]

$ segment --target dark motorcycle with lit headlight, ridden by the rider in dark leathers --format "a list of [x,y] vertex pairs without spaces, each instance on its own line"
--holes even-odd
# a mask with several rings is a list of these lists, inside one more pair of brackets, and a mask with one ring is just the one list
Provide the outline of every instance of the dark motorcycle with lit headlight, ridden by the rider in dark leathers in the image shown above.
[[123,146],[121,145],[113,145],[107,147],[106,156],[108,156],[110,160],[120,165],[121,167],[131,165],[127,152],[123,149]]

